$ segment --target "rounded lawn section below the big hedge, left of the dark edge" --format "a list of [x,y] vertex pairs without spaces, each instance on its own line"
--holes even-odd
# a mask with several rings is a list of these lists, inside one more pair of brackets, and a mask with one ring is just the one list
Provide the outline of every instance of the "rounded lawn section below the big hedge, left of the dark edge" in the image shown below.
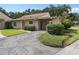
[[48,46],[62,47],[63,41],[69,36],[65,35],[51,35],[49,33],[44,33],[39,37],[40,42]]

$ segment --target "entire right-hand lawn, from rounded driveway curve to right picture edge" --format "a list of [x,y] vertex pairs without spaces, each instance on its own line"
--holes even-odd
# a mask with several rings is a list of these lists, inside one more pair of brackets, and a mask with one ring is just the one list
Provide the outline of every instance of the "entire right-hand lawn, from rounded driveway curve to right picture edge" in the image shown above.
[[[51,35],[49,33],[44,33],[39,37],[39,40],[45,45],[54,47],[64,47],[70,45],[79,39],[79,26],[74,26],[70,29],[76,30],[77,32],[67,33],[67,35]],[[72,36],[68,34],[71,34]]]

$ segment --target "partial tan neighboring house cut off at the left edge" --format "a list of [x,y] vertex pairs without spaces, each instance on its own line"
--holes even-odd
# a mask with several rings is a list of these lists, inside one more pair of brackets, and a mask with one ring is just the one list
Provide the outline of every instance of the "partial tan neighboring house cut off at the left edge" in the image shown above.
[[8,17],[7,15],[0,12],[0,29],[4,29],[5,28],[5,22],[11,21],[11,20],[12,19],[10,17]]

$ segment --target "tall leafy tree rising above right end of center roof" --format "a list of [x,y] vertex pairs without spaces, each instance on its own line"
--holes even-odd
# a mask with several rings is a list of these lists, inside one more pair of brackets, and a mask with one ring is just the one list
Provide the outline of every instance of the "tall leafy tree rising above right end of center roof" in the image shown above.
[[69,13],[71,7],[69,5],[49,5],[43,9],[43,12],[49,12],[51,16],[62,16],[63,13]]

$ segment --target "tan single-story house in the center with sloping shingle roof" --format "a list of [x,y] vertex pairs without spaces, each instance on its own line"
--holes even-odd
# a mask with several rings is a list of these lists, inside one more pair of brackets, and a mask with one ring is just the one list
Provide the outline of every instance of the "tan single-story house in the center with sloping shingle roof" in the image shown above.
[[52,18],[48,12],[24,15],[14,20],[13,27],[16,29],[22,29],[24,26],[34,25],[36,30],[44,30],[50,20],[52,20]]

